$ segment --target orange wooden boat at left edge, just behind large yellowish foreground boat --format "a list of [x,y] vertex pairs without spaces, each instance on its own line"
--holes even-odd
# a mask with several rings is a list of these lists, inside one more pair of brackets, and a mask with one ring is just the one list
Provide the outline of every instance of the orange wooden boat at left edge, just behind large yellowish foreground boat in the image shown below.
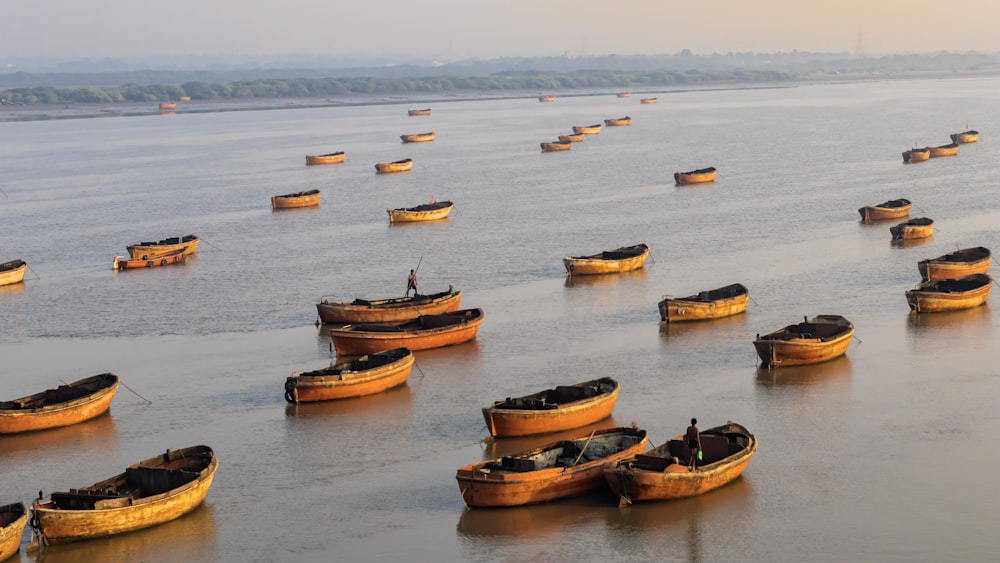
[[0,434],[59,428],[96,418],[111,408],[118,376],[102,373],[34,395],[0,402]]

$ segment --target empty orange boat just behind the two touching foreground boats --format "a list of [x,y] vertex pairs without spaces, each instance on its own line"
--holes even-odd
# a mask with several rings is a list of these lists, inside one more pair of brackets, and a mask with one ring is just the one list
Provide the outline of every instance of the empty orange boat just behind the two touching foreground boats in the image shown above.
[[483,408],[490,435],[531,436],[579,428],[611,416],[620,384],[601,377],[573,385],[557,385],[524,397],[507,397]]

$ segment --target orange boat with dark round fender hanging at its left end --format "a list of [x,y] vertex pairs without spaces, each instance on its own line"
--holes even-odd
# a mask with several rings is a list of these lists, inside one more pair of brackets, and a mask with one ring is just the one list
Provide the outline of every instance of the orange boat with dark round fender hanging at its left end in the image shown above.
[[395,348],[307,371],[285,380],[285,400],[308,403],[363,397],[406,383],[413,369],[413,352]]

